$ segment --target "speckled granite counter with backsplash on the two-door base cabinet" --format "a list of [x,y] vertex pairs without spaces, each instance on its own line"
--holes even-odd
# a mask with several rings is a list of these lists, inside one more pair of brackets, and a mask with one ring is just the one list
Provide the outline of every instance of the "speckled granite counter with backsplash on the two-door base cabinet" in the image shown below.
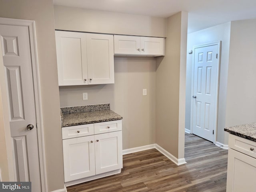
[[61,127],[122,120],[122,116],[110,110],[110,104],[60,108]]

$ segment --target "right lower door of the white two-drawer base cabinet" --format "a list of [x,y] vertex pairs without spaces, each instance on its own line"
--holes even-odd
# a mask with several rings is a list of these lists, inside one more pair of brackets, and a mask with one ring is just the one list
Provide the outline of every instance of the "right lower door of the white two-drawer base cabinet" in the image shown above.
[[96,174],[122,168],[122,131],[102,133],[94,137]]

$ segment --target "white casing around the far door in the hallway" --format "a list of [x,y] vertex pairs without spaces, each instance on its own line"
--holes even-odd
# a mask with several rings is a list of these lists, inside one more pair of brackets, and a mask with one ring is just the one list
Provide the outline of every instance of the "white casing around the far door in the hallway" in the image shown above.
[[202,48],[202,47],[208,47],[208,46],[212,46],[212,45],[218,45],[218,59],[217,59],[217,83],[216,83],[216,87],[215,87],[215,91],[216,91],[216,98],[215,98],[215,112],[214,112],[214,137],[213,137],[213,143],[216,143],[216,139],[217,139],[217,117],[218,117],[218,90],[219,90],[219,78],[220,78],[220,51],[221,51],[221,41],[216,41],[216,42],[212,42],[212,43],[206,43],[206,44],[202,44],[202,45],[195,45],[193,46],[193,54],[192,54],[192,75],[191,75],[191,107],[190,107],[190,133],[193,133],[193,94],[194,94],[194,67],[195,67],[195,50],[197,48]]

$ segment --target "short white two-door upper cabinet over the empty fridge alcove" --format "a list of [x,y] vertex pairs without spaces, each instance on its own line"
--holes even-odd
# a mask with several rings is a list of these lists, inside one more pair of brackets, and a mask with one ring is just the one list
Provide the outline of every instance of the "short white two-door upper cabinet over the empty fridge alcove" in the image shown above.
[[114,35],[115,55],[164,55],[164,38]]

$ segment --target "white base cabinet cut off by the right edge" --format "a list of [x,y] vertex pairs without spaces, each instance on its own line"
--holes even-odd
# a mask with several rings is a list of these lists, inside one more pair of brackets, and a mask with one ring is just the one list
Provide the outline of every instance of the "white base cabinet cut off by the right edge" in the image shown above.
[[227,192],[254,192],[256,142],[229,134]]

